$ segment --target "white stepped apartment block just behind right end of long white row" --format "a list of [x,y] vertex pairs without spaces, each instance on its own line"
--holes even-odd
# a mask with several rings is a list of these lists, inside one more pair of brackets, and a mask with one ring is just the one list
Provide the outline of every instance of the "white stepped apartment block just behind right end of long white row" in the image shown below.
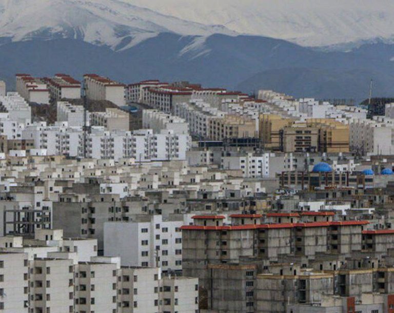
[[142,127],[152,129],[154,133],[160,133],[162,129],[172,130],[175,134],[189,133],[189,125],[184,119],[159,110],[143,110]]

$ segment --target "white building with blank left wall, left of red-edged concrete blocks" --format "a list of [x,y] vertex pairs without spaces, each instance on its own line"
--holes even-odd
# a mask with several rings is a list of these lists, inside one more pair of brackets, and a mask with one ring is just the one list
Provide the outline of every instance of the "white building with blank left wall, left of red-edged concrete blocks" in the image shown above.
[[176,221],[163,221],[160,215],[148,218],[149,221],[105,223],[104,254],[121,257],[124,266],[182,270],[180,227],[189,224],[190,217],[185,215],[185,220]]

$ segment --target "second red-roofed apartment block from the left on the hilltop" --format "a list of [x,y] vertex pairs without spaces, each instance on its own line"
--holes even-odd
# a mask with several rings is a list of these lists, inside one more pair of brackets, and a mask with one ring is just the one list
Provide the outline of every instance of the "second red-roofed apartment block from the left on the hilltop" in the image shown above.
[[46,78],[45,81],[52,101],[81,98],[81,82],[73,79],[70,75],[55,74],[51,78]]

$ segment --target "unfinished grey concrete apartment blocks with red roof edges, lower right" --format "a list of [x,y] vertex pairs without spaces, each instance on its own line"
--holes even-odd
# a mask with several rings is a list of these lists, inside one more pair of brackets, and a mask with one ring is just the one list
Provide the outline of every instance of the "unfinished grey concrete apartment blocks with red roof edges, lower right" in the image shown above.
[[200,308],[285,312],[287,304],[319,303],[325,294],[394,292],[394,230],[333,221],[333,212],[301,216],[307,222],[299,213],[267,213],[262,224],[260,214],[232,214],[227,225],[225,216],[195,216],[194,225],[182,226],[183,274],[199,278]]

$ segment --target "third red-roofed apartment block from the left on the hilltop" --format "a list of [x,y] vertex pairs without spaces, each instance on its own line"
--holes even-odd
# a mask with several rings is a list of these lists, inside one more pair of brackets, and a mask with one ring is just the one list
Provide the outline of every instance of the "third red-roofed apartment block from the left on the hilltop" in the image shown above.
[[84,75],[86,96],[91,100],[107,100],[117,106],[124,106],[125,85],[97,74]]

